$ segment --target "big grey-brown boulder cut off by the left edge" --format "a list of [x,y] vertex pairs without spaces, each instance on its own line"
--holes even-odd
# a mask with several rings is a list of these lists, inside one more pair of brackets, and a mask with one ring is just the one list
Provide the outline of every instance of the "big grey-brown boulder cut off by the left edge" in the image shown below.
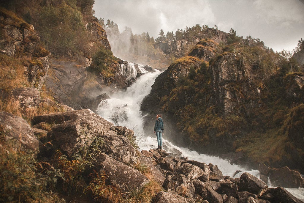
[[11,141],[15,149],[30,150],[36,156],[39,152],[39,141],[29,124],[18,116],[0,111],[0,135],[5,135],[6,141]]

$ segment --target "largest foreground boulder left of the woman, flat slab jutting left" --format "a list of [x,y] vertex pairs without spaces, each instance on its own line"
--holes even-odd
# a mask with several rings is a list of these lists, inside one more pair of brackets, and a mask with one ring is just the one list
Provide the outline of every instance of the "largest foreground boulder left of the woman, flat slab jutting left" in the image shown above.
[[34,118],[36,123],[42,121],[59,124],[48,133],[48,139],[54,140],[68,156],[75,153],[86,155],[92,142],[101,137],[103,144],[99,147],[102,152],[130,166],[136,163],[136,150],[127,138],[133,135],[133,131],[126,127],[113,126],[89,109]]

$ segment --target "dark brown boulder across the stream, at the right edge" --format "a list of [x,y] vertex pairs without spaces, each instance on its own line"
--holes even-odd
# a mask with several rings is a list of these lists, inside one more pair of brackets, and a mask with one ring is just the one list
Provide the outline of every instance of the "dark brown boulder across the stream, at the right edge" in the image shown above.
[[279,169],[272,168],[269,171],[269,179],[272,185],[287,188],[304,187],[304,179],[296,170],[290,170],[287,166]]

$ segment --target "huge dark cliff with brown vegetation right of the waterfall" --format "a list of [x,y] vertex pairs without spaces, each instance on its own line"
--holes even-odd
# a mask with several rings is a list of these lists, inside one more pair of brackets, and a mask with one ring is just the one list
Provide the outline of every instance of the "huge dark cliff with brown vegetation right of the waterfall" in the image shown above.
[[[266,163],[303,171],[298,161],[304,158],[303,148],[287,136],[285,125],[303,103],[302,73],[282,75],[271,51],[260,44],[238,44],[242,43],[199,41],[159,75],[141,109],[149,115],[147,120],[164,114],[168,128],[174,129],[166,131],[172,142],[203,153],[227,154],[240,163],[252,160],[255,167]],[[295,120],[302,123],[301,116]],[[275,147],[258,153],[254,149],[262,144],[259,139]],[[236,160],[231,152],[243,155]]]

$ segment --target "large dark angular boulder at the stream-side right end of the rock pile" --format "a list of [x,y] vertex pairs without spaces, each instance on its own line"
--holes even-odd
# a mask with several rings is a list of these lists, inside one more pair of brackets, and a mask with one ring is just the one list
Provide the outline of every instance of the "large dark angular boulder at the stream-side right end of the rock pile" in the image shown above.
[[266,191],[268,186],[257,177],[250,173],[243,173],[240,177],[240,185],[238,191],[248,191],[261,197]]

